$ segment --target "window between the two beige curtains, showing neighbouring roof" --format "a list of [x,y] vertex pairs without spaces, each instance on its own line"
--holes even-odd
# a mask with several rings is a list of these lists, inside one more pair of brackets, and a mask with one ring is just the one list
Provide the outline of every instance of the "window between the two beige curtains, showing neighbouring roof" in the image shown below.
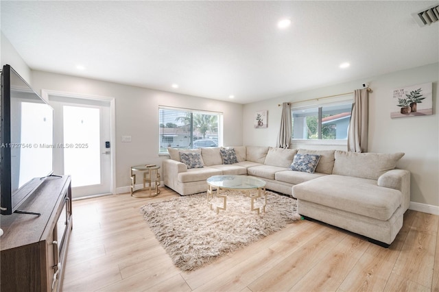
[[352,101],[307,108],[292,108],[292,138],[346,140]]

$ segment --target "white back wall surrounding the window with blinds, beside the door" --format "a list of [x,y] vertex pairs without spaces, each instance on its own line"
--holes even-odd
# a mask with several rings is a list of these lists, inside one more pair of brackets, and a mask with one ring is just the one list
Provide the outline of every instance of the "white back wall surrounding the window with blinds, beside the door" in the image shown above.
[[[161,165],[158,106],[223,112],[224,145],[242,145],[241,104],[42,71],[32,71],[32,87],[37,92],[45,89],[115,98],[117,188],[130,185],[130,166]],[[131,136],[132,142],[122,143],[121,136]]]

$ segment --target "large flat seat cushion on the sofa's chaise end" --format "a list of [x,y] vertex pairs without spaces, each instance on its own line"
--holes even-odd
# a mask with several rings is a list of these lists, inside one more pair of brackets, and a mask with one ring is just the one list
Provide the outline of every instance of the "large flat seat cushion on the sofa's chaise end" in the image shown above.
[[376,180],[344,175],[324,175],[296,184],[292,191],[296,199],[383,221],[402,203],[400,191],[377,186]]

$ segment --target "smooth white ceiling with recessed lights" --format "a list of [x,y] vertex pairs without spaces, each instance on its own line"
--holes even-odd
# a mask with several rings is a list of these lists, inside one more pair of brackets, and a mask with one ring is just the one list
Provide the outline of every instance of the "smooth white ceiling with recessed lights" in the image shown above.
[[438,62],[433,5],[2,0],[1,31],[34,70],[247,104]]

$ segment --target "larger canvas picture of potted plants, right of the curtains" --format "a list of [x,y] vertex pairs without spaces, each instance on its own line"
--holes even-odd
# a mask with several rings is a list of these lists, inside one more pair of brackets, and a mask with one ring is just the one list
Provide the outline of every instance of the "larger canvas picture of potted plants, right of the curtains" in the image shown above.
[[396,88],[392,91],[390,117],[415,117],[433,114],[433,84],[431,82]]

